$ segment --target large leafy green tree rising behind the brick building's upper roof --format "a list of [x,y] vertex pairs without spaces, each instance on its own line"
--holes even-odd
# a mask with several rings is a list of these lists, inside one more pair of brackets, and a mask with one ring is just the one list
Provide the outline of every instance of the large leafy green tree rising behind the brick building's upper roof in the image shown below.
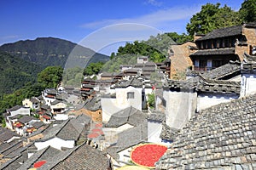
[[220,8],[220,3],[207,3],[201,7],[199,13],[192,16],[186,29],[191,37],[195,33],[207,34],[218,28],[240,25],[241,19],[239,16],[238,12],[226,5]]

